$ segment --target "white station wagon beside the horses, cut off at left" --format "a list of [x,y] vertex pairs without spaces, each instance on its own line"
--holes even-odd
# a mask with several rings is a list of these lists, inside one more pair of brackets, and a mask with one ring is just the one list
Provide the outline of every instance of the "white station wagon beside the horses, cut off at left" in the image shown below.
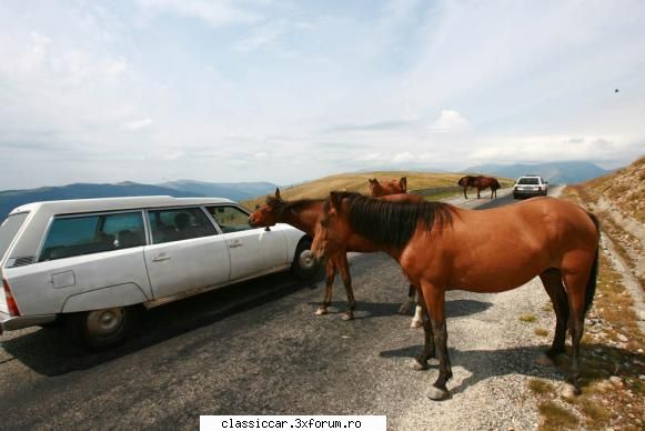
[[228,199],[109,198],[16,208],[0,227],[0,334],[64,319],[89,347],[120,342],[139,305],[292,269],[315,274],[311,238],[252,228]]

